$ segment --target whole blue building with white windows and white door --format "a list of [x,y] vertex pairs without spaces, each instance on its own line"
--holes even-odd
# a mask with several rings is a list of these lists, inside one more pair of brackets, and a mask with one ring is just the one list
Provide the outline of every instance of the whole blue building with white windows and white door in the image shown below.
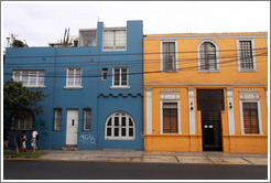
[[40,149],[143,149],[143,23],[79,30],[77,47],[8,47],[4,82],[48,95],[44,112],[17,120]]

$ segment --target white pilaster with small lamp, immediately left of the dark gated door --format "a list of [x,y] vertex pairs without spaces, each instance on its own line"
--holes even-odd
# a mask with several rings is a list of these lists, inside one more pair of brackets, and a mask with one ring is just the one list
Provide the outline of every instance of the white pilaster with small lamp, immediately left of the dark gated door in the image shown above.
[[189,110],[189,133],[196,133],[195,125],[195,92],[194,87],[188,87],[188,110]]

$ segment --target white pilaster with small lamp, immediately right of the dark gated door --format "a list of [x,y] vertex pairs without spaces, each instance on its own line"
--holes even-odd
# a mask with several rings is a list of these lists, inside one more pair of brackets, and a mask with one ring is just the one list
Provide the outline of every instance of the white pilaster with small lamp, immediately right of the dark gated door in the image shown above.
[[234,136],[235,132],[235,109],[234,109],[234,93],[231,87],[227,87],[227,103],[228,103],[228,125],[229,134]]

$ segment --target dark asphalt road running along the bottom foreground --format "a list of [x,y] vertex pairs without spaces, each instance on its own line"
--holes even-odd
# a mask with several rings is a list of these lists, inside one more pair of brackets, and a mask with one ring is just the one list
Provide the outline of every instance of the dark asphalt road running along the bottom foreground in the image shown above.
[[4,160],[3,180],[267,180],[267,165]]

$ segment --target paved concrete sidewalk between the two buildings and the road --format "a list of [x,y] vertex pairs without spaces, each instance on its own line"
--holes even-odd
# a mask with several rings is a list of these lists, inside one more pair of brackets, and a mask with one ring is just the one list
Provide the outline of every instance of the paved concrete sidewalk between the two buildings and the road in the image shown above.
[[43,152],[47,154],[39,158],[40,160],[268,165],[265,153],[138,150],[43,150]]

